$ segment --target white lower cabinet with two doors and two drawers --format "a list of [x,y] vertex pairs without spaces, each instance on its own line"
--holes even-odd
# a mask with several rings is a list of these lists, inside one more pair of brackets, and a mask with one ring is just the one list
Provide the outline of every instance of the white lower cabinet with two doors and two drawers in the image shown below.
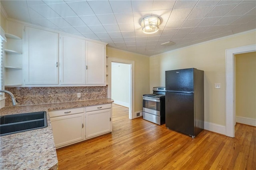
[[50,111],[56,148],[112,132],[112,104]]

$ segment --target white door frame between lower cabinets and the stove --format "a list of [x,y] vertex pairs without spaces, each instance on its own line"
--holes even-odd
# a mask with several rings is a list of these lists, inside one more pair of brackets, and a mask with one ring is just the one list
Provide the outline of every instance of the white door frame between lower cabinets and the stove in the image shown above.
[[129,119],[134,119],[134,61],[108,57],[108,98],[111,98],[111,71],[112,62],[130,65],[130,102],[129,102]]

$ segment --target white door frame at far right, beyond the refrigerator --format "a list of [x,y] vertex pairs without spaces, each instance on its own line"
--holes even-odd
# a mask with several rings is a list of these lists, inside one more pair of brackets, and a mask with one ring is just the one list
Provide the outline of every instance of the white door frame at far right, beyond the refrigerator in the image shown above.
[[226,49],[226,136],[235,137],[235,63],[234,55],[256,51],[256,44]]

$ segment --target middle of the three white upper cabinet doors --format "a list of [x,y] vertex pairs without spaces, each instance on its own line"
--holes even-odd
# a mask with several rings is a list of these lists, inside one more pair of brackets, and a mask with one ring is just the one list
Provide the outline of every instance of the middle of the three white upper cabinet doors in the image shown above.
[[85,85],[85,40],[61,36],[61,85]]

